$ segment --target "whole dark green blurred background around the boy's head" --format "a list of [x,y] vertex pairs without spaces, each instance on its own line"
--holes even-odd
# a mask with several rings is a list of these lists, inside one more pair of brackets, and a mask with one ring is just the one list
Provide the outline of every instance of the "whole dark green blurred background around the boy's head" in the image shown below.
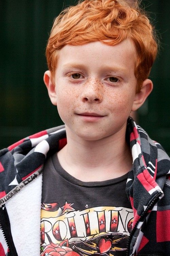
[[[0,148],[62,124],[43,82],[45,47],[53,19],[74,0],[1,0]],[[170,1],[142,1],[161,47],[150,78],[154,90],[138,123],[170,154]]]

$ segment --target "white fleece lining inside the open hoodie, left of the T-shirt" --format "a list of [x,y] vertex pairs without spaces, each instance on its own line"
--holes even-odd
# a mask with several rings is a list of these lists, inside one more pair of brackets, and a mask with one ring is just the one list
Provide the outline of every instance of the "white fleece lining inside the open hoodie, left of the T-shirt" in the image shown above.
[[6,203],[18,256],[40,255],[42,174]]

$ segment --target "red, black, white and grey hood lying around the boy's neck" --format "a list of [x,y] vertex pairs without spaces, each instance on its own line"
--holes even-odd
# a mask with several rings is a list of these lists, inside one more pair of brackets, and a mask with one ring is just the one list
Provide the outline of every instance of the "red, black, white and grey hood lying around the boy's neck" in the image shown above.
[[[126,193],[134,210],[134,224],[153,200],[164,196],[170,158],[163,147],[129,117],[126,140],[130,144],[133,170]],[[42,172],[47,157],[66,145],[65,126],[58,126],[24,138],[0,151],[0,207]],[[126,156],[125,156],[126,157]]]

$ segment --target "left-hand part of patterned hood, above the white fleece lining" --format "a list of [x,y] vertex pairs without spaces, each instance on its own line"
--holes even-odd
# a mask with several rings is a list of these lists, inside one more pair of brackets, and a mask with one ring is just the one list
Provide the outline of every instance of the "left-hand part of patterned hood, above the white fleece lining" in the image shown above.
[[66,144],[64,126],[38,132],[0,151],[0,207],[34,180],[47,155]]

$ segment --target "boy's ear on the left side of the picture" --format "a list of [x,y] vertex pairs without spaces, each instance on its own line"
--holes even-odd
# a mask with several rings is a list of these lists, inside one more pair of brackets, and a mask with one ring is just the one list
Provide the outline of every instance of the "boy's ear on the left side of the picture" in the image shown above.
[[55,84],[52,83],[52,78],[51,78],[51,71],[47,70],[44,73],[44,83],[47,87],[48,90],[48,95],[50,97],[50,100],[53,105],[57,105],[56,101],[56,91],[55,91]]

